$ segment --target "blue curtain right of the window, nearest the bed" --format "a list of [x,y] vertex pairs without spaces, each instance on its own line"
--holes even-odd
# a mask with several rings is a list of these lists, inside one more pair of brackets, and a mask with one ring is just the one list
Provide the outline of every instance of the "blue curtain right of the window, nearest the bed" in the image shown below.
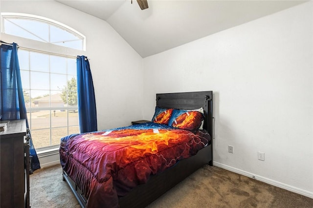
[[90,65],[87,57],[77,56],[78,117],[81,133],[96,131],[97,111]]

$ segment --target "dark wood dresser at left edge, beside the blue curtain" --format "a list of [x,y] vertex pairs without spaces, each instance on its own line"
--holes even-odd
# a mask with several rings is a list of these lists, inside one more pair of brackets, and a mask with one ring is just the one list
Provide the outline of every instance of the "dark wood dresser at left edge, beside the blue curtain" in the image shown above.
[[1,121],[0,207],[29,208],[29,143],[24,119]]

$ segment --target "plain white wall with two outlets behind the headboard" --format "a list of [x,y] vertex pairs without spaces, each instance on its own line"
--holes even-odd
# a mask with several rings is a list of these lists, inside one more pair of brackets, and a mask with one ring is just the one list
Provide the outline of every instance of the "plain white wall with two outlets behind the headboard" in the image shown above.
[[313,3],[144,59],[145,119],[156,93],[205,90],[214,164],[313,198]]

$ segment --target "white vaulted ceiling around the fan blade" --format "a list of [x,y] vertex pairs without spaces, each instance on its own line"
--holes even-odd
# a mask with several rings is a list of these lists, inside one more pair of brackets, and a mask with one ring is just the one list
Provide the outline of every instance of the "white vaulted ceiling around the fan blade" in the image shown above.
[[57,0],[107,21],[141,57],[303,3],[301,0]]

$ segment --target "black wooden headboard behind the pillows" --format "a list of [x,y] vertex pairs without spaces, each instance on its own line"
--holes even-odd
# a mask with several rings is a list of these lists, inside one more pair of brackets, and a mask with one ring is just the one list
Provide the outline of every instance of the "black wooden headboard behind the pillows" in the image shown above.
[[156,94],[156,106],[163,108],[176,108],[193,110],[203,107],[203,128],[209,132],[213,139],[213,92],[179,92]]

